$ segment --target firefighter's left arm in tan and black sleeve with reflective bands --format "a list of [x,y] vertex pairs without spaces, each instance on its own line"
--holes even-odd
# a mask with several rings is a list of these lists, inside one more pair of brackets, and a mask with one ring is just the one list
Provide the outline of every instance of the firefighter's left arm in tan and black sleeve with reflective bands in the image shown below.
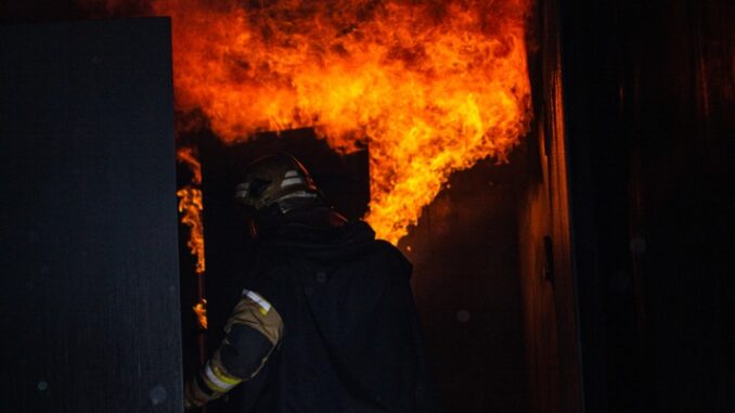
[[204,405],[255,377],[281,340],[283,320],[263,297],[245,289],[224,332],[219,349],[186,383],[186,409]]

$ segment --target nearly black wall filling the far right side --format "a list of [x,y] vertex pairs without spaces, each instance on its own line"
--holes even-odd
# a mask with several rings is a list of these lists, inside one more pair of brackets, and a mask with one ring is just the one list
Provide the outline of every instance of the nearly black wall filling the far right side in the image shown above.
[[586,410],[735,410],[735,7],[562,2]]

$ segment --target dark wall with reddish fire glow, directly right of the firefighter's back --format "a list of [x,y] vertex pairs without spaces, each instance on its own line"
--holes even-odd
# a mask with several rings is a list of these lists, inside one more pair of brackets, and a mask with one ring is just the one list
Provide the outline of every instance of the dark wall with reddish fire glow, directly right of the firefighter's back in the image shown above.
[[447,412],[528,412],[518,264],[523,151],[455,172],[399,246]]

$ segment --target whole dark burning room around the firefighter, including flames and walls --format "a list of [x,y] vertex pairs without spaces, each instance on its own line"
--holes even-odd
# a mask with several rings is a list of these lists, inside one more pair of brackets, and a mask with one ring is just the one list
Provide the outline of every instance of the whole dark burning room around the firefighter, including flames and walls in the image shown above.
[[438,411],[735,411],[734,20],[3,2],[0,411],[183,412],[256,260],[235,188],[273,153],[411,262]]

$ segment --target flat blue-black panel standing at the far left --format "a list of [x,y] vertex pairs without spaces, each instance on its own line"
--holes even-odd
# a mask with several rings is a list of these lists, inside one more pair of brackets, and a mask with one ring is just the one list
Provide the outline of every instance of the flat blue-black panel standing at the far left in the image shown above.
[[0,27],[3,412],[182,410],[170,23]]

